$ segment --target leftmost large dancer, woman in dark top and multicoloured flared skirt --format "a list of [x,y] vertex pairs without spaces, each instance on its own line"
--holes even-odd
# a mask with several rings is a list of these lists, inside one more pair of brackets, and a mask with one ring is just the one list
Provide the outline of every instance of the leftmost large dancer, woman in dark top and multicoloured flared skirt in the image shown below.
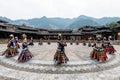
[[8,42],[7,49],[2,55],[5,55],[6,57],[12,57],[16,55],[16,46],[13,34],[10,35],[10,40]]

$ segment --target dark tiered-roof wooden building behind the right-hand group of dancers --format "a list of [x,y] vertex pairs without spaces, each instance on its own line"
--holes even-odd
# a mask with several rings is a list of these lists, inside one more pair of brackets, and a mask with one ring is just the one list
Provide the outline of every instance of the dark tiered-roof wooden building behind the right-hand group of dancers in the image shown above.
[[102,37],[106,37],[108,39],[109,36],[112,35],[112,32],[109,28],[105,26],[84,26],[78,29],[78,32],[82,34],[81,39],[95,39],[96,35],[101,35]]

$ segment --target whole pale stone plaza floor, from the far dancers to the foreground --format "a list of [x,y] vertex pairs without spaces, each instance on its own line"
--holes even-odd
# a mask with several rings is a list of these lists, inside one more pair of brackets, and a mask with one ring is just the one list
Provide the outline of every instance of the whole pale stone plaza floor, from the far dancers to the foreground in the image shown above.
[[[1,53],[6,45],[0,44]],[[115,55],[108,54],[109,59],[99,63],[89,57],[92,47],[67,43],[65,53],[70,61],[57,66],[53,61],[57,43],[35,43],[29,46],[34,57],[28,62],[18,63],[18,56],[0,56],[0,80],[120,80],[120,45],[114,47]]]

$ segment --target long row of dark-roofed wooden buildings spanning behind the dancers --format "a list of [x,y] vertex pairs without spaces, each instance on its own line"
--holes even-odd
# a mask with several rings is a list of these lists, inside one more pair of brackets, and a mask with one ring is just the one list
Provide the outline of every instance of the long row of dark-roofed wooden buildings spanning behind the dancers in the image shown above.
[[[120,31],[119,31],[120,32]],[[33,37],[34,39],[52,39],[57,40],[58,34],[62,34],[65,40],[88,40],[95,39],[96,35],[102,35],[102,37],[107,37],[112,34],[112,32],[107,27],[94,27],[94,26],[83,26],[77,31],[71,29],[39,29],[29,26],[20,26],[9,24],[6,21],[0,20],[0,38],[8,38],[10,34],[14,34],[21,38],[22,34],[26,34],[28,38]]]

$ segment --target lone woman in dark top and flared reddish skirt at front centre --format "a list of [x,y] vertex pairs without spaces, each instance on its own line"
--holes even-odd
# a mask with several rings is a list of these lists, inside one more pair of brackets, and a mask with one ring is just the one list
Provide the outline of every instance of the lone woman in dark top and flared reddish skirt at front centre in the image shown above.
[[64,41],[62,40],[62,35],[59,34],[58,35],[58,48],[57,48],[57,52],[54,55],[54,61],[57,64],[67,63],[67,61],[69,61],[69,59],[67,58],[65,54],[65,48],[64,48],[65,46],[67,46],[67,44],[64,43]]

